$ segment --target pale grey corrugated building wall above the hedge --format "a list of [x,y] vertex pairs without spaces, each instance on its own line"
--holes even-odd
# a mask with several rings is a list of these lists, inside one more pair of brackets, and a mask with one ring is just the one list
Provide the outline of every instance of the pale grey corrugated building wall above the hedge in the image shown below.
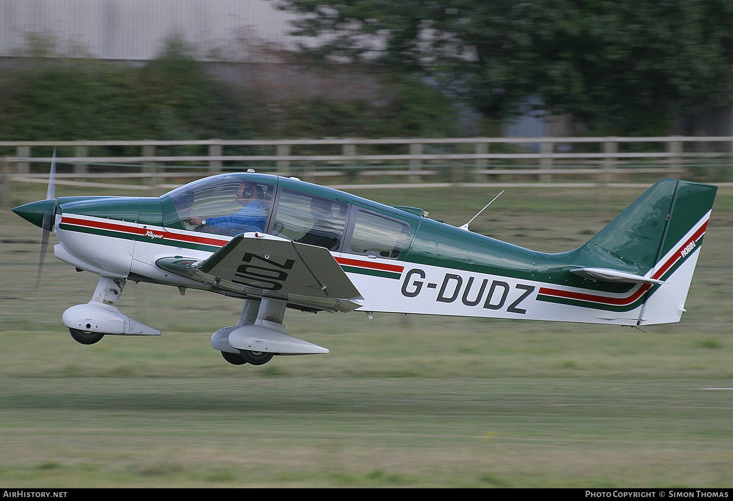
[[180,32],[204,58],[242,60],[255,42],[292,46],[290,19],[271,0],[0,0],[0,56],[54,40],[59,55],[147,60]]

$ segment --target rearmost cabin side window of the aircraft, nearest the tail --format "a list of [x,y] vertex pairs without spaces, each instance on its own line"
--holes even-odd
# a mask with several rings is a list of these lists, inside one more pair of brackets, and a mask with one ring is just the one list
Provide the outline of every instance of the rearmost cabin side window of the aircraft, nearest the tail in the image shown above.
[[410,233],[410,224],[366,209],[358,209],[350,251],[378,257],[399,257]]

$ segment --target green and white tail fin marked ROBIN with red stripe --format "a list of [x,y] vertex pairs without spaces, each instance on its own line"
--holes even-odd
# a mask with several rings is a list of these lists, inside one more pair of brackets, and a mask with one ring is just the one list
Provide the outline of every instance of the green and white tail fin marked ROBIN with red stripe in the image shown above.
[[576,262],[594,268],[574,271],[607,271],[611,279],[638,283],[638,325],[679,321],[716,191],[707,184],[658,181],[578,249]]

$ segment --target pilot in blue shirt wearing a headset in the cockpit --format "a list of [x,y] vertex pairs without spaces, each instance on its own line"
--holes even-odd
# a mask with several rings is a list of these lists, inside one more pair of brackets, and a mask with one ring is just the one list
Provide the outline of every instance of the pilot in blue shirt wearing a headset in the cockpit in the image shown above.
[[237,190],[237,203],[242,208],[231,216],[207,217],[202,219],[193,216],[188,219],[188,224],[194,226],[205,226],[220,230],[224,235],[239,235],[240,233],[252,231],[265,231],[267,214],[262,206],[262,189],[254,183],[244,181],[240,183]]

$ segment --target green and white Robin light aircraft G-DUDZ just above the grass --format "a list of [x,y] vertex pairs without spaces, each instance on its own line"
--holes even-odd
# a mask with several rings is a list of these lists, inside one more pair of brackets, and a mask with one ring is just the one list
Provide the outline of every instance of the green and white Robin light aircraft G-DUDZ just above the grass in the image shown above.
[[48,200],[13,211],[43,228],[42,242],[56,233],[57,258],[100,276],[91,301],[63,314],[78,342],[161,334],[117,308],[125,282],[150,282],[243,299],[239,321],[211,345],[229,363],[262,365],[328,353],[285,332],[287,308],[677,322],[716,191],[659,180],[586,244],[557,254],[251,169],[161,197],[56,198],[50,181]]

